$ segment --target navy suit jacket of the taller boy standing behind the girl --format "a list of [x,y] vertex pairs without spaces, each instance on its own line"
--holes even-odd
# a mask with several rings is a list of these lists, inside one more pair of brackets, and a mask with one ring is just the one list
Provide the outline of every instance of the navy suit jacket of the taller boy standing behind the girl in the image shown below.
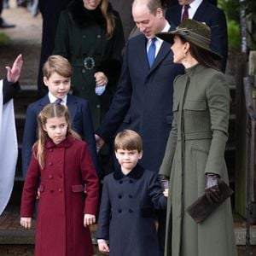
[[[38,113],[49,103],[49,96],[46,95],[37,102],[30,104],[26,110],[26,122],[22,140],[22,174],[24,178],[26,177],[27,168],[31,160],[32,146],[38,139]],[[92,125],[88,102],[77,96],[68,94],[67,108],[70,112],[72,128],[88,144],[96,171],[100,175],[96,157],[94,127]]]

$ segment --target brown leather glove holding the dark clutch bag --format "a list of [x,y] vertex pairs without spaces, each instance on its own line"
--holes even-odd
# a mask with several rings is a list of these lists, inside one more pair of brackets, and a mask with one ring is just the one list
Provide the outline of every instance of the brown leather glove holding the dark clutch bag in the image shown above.
[[214,202],[219,201],[219,189],[218,189],[219,176],[214,173],[207,173],[205,192],[207,200],[212,205]]

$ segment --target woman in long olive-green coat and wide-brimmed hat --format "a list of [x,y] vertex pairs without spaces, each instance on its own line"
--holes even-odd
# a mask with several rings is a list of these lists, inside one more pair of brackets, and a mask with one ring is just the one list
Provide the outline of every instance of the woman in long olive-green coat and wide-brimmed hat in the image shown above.
[[218,72],[221,56],[209,48],[210,28],[184,20],[158,37],[172,44],[185,74],[174,82],[172,131],[160,175],[170,178],[166,256],[236,256],[230,198],[200,224],[186,212],[199,196],[218,201],[218,181],[229,183],[224,162],[228,139],[229,86]]

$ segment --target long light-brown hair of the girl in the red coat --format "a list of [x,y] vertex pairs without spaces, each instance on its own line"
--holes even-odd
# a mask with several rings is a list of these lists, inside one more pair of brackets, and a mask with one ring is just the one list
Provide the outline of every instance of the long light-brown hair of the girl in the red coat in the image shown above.
[[77,139],[81,139],[79,134],[71,128],[70,115],[66,106],[63,106],[58,103],[51,103],[46,105],[43,110],[38,114],[38,141],[34,144],[38,147],[38,152],[36,158],[38,160],[39,166],[44,169],[44,151],[45,143],[49,139],[49,136],[46,131],[44,131],[45,124],[47,119],[55,117],[65,117],[67,121],[67,135],[71,135]]

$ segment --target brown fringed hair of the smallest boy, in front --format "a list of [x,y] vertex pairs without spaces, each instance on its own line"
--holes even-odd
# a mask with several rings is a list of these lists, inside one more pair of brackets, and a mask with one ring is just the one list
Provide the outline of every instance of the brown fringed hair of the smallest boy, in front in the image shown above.
[[114,150],[118,149],[137,150],[140,153],[143,151],[143,139],[136,131],[120,131],[114,139]]

